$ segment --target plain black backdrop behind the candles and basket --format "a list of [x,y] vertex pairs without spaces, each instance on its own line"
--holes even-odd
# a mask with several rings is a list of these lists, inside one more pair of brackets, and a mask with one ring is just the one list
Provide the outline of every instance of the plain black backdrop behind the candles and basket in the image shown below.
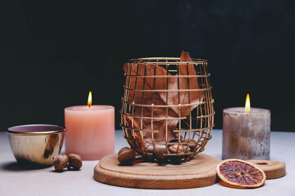
[[271,110],[271,130],[294,131],[292,1],[9,1],[1,17],[0,129],[64,125],[64,108],[114,105],[120,129],[124,63],[208,60],[215,128],[222,110]]

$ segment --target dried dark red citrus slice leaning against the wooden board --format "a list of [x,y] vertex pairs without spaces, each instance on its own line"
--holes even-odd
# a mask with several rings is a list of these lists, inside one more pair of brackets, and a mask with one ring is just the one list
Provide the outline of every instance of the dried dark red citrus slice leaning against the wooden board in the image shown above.
[[262,169],[240,159],[223,160],[217,165],[216,172],[223,182],[244,188],[260,187],[266,180]]

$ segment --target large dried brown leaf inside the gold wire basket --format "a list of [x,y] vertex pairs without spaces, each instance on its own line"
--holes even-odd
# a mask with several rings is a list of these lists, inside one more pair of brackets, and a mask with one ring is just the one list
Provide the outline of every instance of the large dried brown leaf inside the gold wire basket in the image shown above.
[[[182,51],[180,62],[191,62],[191,58],[188,52]],[[128,73],[127,73],[127,67]],[[167,73],[167,70],[162,67],[155,65],[151,62],[151,64],[147,64],[145,70],[145,64],[133,64],[131,70],[131,64],[128,65],[126,63],[124,65],[124,71],[127,75],[139,75],[139,76],[170,76],[170,73]],[[145,73],[145,74],[144,74]],[[188,75],[195,76],[196,71],[193,65],[188,66]],[[186,64],[179,65],[179,75],[186,76],[187,75],[187,67]],[[129,79],[128,81],[129,82]],[[136,86],[135,86],[136,83]],[[130,77],[130,89],[137,89],[137,90],[166,90],[167,89],[167,77]],[[168,90],[177,90],[178,83],[177,77],[169,77],[168,78]],[[187,77],[180,77],[179,78],[179,89],[188,89],[188,78]],[[196,77],[189,78],[189,89],[199,89],[198,81]],[[167,98],[166,98],[167,93]],[[191,103],[199,103],[200,100],[204,98],[204,91],[200,91],[201,97],[199,97],[199,91],[190,91],[190,98]],[[153,99],[154,95],[154,99]],[[129,91],[128,102],[141,105],[178,105],[178,104],[189,104],[189,93],[188,91],[180,91],[179,93],[179,100],[178,100],[178,92],[176,91],[169,91],[169,92],[152,92],[152,91]],[[142,99],[143,98],[143,99]],[[191,110],[196,108],[197,105],[192,105]],[[189,114],[189,106],[181,107],[180,111],[178,107],[149,107],[149,106],[134,106],[134,116],[144,116],[144,117],[153,117],[153,118],[178,118],[178,117],[185,117]],[[166,110],[167,109],[167,110]],[[153,114],[153,116],[152,116]],[[173,130],[176,130],[176,125],[179,120],[163,120],[163,119],[140,119],[134,118],[137,124],[143,130],[155,130],[159,131],[158,133],[153,133],[153,138],[155,142],[168,142],[169,140],[175,137]],[[152,122],[153,121],[153,122]],[[165,136],[167,126],[167,139]],[[145,141],[152,141],[152,133],[150,132],[143,132],[143,137]]]

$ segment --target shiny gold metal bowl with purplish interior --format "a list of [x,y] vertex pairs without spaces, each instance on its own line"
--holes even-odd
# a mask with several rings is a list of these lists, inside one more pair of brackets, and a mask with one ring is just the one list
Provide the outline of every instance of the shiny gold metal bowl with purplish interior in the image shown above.
[[26,168],[45,168],[60,153],[67,129],[58,125],[20,125],[10,127],[9,143],[15,159]]

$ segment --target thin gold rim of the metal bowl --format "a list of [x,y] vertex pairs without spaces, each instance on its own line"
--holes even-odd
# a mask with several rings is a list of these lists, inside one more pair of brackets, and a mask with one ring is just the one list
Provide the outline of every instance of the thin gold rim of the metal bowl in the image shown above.
[[[57,127],[62,127],[63,129],[57,130],[57,131],[43,131],[43,132],[19,132],[19,131],[9,130],[10,128],[14,128],[14,127],[29,127],[29,126],[57,126]],[[6,130],[6,133],[13,134],[13,135],[52,135],[52,134],[63,133],[65,131],[67,131],[67,128],[60,125],[33,124],[33,125],[18,125],[18,126],[9,127]]]

